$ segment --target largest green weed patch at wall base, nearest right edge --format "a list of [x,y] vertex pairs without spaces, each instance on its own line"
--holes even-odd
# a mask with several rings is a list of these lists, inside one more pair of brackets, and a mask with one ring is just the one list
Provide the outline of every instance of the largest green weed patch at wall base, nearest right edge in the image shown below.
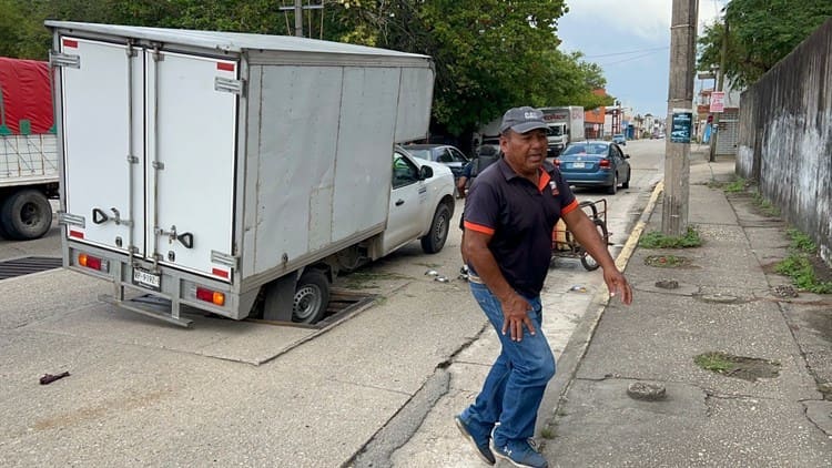
[[811,237],[795,228],[789,228],[785,234],[791,238],[789,256],[774,265],[774,271],[789,276],[792,284],[801,291],[815,294],[832,294],[832,279],[823,279],[820,273],[830,277],[829,268],[818,257],[818,247]]

